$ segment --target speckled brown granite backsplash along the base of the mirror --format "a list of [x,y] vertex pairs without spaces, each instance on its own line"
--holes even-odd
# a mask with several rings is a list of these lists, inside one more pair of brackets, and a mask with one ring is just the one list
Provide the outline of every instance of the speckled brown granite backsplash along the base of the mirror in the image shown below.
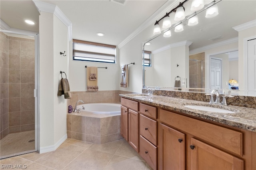
[[[174,88],[173,88],[174,89]],[[210,89],[209,93],[210,93]],[[200,93],[202,91],[202,93]],[[178,89],[174,90],[154,90],[154,95],[166,96],[166,97],[175,97],[179,99],[189,99],[194,101],[210,101],[210,96],[205,95],[205,89],[189,89],[189,91],[179,91]],[[235,93],[236,90],[233,90],[232,93]],[[142,93],[148,93],[146,89],[142,89]],[[231,94],[233,95],[233,94]],[[220,101],[222,101],[222,92],[220,93]],[[239,107],[248,107],[256,109],[256,97],[252,96],[242,96],[234,95],[234,97],[226,98],[227,104],[232,106]]]

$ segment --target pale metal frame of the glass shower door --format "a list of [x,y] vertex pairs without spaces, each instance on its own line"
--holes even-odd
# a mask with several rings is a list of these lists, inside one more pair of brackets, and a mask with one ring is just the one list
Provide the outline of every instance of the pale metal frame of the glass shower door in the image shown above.
[[30,31],[8,31],[8,30],[0,30],[0,32],[10,33],[10,34],[18,34],[23,36],[33,36],[35,42],[35,87],[34,87],[34,98],[35,98],[35,149],[34,150],[26,150],[24,152],[14,153],[11,155],[1,156],[2,158],[8,158],[11,156],[17,156],[21,154],[26,154],[30,152],[36,152],[39,148],[39,33],[30,32]]

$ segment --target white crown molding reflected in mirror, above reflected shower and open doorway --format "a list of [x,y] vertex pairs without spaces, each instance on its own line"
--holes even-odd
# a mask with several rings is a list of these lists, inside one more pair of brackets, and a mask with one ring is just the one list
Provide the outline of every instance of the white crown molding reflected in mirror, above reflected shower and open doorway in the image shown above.
[[197,54],[197,53],[200,53],[200,52],[205,51],[205,50],[207,50],[207,49],[211,49],[211,48],[215,48],[215,47],[220,47],[220,46],[222,46],[222,45],[226,45],[226,44],[234,43],[234,42],[238,42],[238,37],[236,37],[236,38],[231,38],[231,39],[229,39],[229,40],[225,40],[225,41],[218,42],[218,43],[213,43],[213,44],[211,44],[211,45],[206,45],[206,46],[204,46],[204,47],[192,49],[192,50],[189,51],[189,55]]

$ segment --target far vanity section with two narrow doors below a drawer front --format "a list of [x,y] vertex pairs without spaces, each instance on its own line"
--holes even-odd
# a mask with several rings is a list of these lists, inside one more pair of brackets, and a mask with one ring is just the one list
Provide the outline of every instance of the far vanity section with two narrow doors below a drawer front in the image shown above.
[[121,98],[121,135],[139,152],[138,102]]

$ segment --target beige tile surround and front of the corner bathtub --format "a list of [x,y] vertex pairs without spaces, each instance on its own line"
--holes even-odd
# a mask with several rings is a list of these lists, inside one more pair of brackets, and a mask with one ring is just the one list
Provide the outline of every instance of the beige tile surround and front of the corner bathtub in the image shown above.
[[[131,93],[128,91],[73,91],[68,105],[75,107],[78,100],[84,103],[120,103],[119,94]],[[79,103],[80,105],[82,103]],[[68,138],[104,144],[123,137],[120,135],[120,115],[98,115],[92,113],[68,113]]]

